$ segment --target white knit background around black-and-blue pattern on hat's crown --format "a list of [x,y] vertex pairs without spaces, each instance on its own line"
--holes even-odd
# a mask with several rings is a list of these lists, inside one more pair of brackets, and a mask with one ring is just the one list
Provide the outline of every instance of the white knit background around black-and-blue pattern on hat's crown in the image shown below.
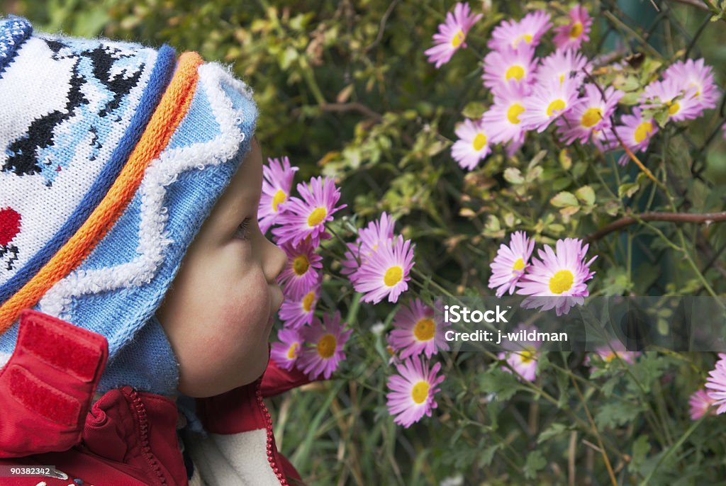
[[[113,44],[116,46],[117,44]],[[122,45],[122,44],[118,44]],[[52,51],[38,37],[31,37],[18,49],[14,61],[7,67],[0,80],[0,144],[7,147],[28,129],[33,120],[50,112],[65,112],[65,104],[73,74],[73,59],[52,59]],[[156,61],[156,52],[148,49],[150,65]],[[133,113],[147,86],[152,69],[142,73],[139,83],[129,93],[129,110]],[[119,73],[121,75],[121,73]],[[100,110],[107,102],[107,96],[95,92],[91,83],[84,83],[83,96],[89,100],[84,110]],[[73,124],[82,115],[74,115],[65,120],[57,133],[70,133]],[[41,176],[16,176],[0,172],[0,208],[12,207],[22,215],[21,228],[13,244],[17,247],[17,260],[14,269],[0,265],[0,285],[5,284],[17,269],[23,268],[28,260],[36,255],[57,233],[78,204],[86,191],[99,177],[105,162],[110,159],[113,149],[118,145],[125,123],[112,125],[106,143],[99,149],[97,157],[89,160],[94,149],[94,133],[87,133],[82,143],[76,144],[73,162],[57,173],[52,186],[44,184]],[[7,161],[8,155],[0,151],[0,166]],[[54,161],[44,161],[53,164]]]

